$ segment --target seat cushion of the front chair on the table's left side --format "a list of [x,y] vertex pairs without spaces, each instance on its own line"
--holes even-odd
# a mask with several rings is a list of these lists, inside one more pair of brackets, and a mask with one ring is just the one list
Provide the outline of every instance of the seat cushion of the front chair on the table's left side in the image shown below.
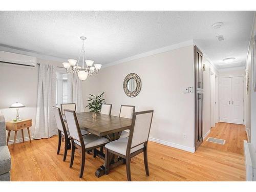
[[[109,142],[108,138],[99,137],[99,136],[94,135],[94,134],[83,135],[82,138],[83,138],[83,142],[84,142],[84,145],[86,146],[86,148],[91,148],[91,147],[94,147],[94,146],[103,145],[103,144]],[[80,142],[77,141],[77,140],[75,140],[74,142],[78,145],[81,145]]]

